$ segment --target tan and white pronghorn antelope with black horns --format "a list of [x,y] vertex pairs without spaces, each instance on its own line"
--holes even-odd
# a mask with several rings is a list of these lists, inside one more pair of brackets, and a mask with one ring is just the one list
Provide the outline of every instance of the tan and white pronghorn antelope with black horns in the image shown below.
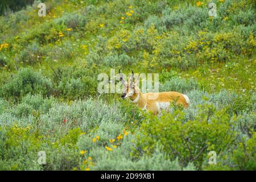
[[121,97],[130,98],[131,102],[137,104],[142,110],[152,111],[153,114],[160,115],[163,109],[168,110],[170,108],[170,102],[176,102],[176,104],[188,107],[189,98],[185,94],[179,92],[141,93],[137,86],[139,77],[134,81],[134,72],[131,71],[132,74],[127,83],[123,80],[123,75],[120,71],[121,69],[118,71],[120,81],[125,86]]

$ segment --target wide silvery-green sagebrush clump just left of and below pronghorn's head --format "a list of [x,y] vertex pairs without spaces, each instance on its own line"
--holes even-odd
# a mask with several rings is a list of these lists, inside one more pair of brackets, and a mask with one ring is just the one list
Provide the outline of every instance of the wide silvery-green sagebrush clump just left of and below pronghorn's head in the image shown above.
[[40,129],[49,135],[61,136],[76,127],[88,132],[104,122],[125,123],[126,119],[118,106],[92,98],[69,104],[54,103],[48,113],[40,115]]

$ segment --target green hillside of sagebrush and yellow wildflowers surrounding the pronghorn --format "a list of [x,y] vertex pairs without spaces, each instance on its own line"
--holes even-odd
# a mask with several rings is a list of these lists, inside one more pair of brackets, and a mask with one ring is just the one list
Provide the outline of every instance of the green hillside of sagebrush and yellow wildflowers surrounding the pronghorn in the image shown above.
[[[11,2],[0,4],[1,170],[256,170],[255,1]],[[98,93],[98,75],[119,68],[159,73],[159,92],[191,104],[158,117]]]

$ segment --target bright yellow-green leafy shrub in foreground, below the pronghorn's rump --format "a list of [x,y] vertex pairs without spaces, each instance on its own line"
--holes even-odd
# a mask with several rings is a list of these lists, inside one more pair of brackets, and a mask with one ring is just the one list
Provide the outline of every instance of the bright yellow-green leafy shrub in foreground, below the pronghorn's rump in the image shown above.
[[209,151],[218,154],[236,141],[234,118],[225,110],[216,111],[212,105],[201,106],[195,119],[183,121],[184,113],[180,110],[160,118],[148,115],[138,136],[137,152],[150,155],[156,144],[160,144],[171,160],[179,157],[183,166],[193,162],[200,169],[204,160],[208,160]]

